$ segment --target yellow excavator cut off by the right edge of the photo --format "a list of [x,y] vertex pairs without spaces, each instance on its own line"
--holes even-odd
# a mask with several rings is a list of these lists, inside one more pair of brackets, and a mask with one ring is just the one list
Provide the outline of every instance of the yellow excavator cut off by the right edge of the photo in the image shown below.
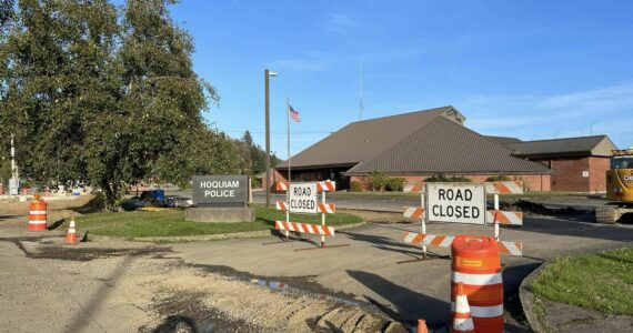
[[611,151],[611,168],[606,171],[606,200],[595,210],[600,223],[615,223],[622,215],[633,213],[633,147]]

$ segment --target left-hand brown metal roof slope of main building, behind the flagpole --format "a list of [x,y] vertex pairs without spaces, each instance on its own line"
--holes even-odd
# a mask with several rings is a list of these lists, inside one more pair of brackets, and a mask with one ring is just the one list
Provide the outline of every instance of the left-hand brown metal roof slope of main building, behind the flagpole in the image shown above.
[[[299,169],[324,165],[352,167],[373,159],[442,114],[455,111],[452,107],[443,107],[352,122],[292,157],[290,163],[292,168]],[[288,164],[284,161],[275,168],[288,168]]]

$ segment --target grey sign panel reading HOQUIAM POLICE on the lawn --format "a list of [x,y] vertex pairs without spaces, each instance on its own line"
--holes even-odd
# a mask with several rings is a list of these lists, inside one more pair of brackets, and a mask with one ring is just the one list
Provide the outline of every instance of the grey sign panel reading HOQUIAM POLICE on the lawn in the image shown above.
[[249,201],[249,176],[194,175],[193,203],[198,206],[243,206]]

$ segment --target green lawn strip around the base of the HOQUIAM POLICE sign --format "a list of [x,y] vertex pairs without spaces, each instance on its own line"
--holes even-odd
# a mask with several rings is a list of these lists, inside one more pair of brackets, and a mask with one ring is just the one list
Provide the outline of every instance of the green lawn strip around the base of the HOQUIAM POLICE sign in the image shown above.
[[[284,220],[285,213],[274,209],[255,208],[254,222],[201,223],[184,221],[184,211],[93,213],[78,216],[79,232],[89,231],[96,235],[120,238],[185,236],[235,233],[274,229],[275,220]],[[291,214],[291,221],[321,223],[321,215]],[[328,225],[360,223],[362,219],[350,214],[331,214]]]

